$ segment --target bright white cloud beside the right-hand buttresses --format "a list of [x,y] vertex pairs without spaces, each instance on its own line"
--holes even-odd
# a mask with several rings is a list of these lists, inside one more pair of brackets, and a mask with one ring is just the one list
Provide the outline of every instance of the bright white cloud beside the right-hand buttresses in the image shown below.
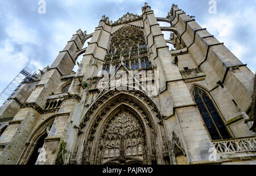
[[[227,13],[217,13],[216,15],[205,16],[205,23],[202,27],[206,27],[207,30],[216,37],[220,42],[224,42],[225,46],[238,57],[243,63],[249,64],[254,58],[248,58],[248,53],[255,56],[253,46],[249,44],[255,44],[255,38],[246,41],[246,35],[250,35],[249,32],[256,30],[256,25],[253,23],[254,16],[256,16],[255,7],[249,7],[245,11],[234,11]],[[249,29],[249,31],[246,31]],[[237,33],[237,32],[240,33]],[[242,41],[242,42],[241,42]],[[256,61],[254,61],[256,62]],[[256,69],[256,65],[248,65],[253,70]]]

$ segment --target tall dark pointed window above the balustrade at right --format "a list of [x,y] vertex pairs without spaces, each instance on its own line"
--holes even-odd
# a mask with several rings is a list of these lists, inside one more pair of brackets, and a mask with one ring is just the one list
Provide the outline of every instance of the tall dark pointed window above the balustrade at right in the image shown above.
[[212,100],[203,89],[195,87],[193,97],[199,108],[212,140],[229,139],[230,135],[220,118]]

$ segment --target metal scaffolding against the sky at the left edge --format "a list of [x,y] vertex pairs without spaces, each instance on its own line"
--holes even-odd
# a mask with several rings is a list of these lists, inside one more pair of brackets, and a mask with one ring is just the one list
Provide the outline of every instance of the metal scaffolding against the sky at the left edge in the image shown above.
[[19,72],[19,74],[9,83],[9,85],[0,94],[0,108],[7,102],[7,100],[16,93],[22,83],[36,81],[38,77],[32,73],[32,70],[27,66]]

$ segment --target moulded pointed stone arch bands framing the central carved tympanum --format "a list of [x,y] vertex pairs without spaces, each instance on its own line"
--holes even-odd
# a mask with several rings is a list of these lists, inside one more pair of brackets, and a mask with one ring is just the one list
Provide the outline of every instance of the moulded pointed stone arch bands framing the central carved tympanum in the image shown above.
[[[142,100],[143,98],[144,101]],[[159,152],[159,149],[155,144],[156,141],[163,139],[158,127],[158,108],[154,106],[154,103],[146,95],[139,94],[138,92],[137,95],[134,95],[126,91],[117,91],[116,93],[109,91],[108,95],[99,98],[89,108],[79,126],[75,142],[77,144],[77,153],[79,154],[74,156],[75,158],[72,160],[81,161],[81,164],[104,164],[109,162],[103,161],[102,157],[98,158],[97,156],[102,156],[100,151],[105,147],[103,145],[105,143],[102,140],[105,140],[106,136],[104,134],[108,133],[110,124],[112,124],[109,121],[114,120],[118,113],[124,113],[128,116],[130,114],[139,121],[141,132],[143,132],[144,140],[147,144],[144,148],[146,149],[146,155],[141,157],[146,164],[156,162],[156,150]],[[108,136],[108,140],[111,140],[112,137]],[[130,135],[130,137],[133,139],[134,135]],[[119,137],[119,141],[120,139]],[[162,143],[158,145],[161,146]],[[118,158],[115,159],[120,162]]]

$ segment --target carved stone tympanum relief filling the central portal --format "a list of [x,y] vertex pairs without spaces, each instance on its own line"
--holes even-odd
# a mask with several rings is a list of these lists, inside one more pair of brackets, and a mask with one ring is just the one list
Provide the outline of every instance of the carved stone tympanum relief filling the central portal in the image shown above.
[[138,157],[143,160],[144,134],[138,121],[123,112],[109,121],[110,127],[103,144],[102,162],[118,157],[119,164],[126,162],[126,157]]

